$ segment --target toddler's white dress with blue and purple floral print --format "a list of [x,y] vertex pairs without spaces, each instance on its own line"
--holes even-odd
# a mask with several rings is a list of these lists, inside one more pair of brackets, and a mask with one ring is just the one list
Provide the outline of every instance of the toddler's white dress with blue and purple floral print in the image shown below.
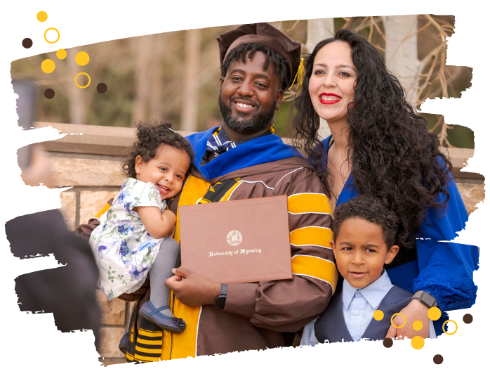
[[147,233],[133,207],[158,207],[163,212],[166,200],[161,200],[154,184],[128,178],[91,234],[100,273],[98,287],[109,300],[141,287],[164,240]]

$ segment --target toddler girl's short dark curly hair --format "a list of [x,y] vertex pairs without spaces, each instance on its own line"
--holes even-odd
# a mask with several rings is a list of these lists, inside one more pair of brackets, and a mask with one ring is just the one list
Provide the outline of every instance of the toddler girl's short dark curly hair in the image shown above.
[[[189,141],[173,132],[171,127],[168,122],[150,121],[136,123],[136,137],[138,140],[133,144],[131,153],[122,162],[122,169],[127,177],[136,178],[134,167],[137,156],[141,156],[143,162],[149,162],[157,155],[157,151],[162,144],[187,153],[190,157],[190,167],[192,167],[194,152]],[[190,167],[187,174],[190,173]]]

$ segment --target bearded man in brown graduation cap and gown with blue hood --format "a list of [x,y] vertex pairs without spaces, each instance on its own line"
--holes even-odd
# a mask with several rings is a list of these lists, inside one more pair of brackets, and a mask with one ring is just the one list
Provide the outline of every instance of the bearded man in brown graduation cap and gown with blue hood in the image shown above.
[[[170,209],[288,195],[293,280],[221,285],[174,269],[166,286],[173,290],[173,315],[187,328],[162,332],[134,312],[129,362],[290,346],[294,332],[326,309],[336,288],[331,212],[322,184],[305,158],[274,135],[275,111],[298,71],[300,44],[265,22],[217,39],[223,124],[188,137],[195,169]],[[178,220],[174,238],[179,242]]]

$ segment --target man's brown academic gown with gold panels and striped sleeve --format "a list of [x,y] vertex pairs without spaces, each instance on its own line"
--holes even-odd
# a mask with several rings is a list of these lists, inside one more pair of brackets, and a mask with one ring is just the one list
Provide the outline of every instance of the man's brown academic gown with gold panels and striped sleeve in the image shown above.
[[[239,178],[237,183],[220,201],[289,196],[293,280],[230,284],[224,311],[214,305],[187,307],[172,293],[173,315],[183,318],[186,330],[180,334],[164,331],[161,335],[161,331],[138,332],[139,325],[130,328],[131,340],[136,340],[136,352],[128,354],[128,361],[185,359],[285,347],[291,342],[285,341],[283,332],[297,332],[329,304],[338,279],[329,245],[332,217],[321,182],[303,157],[239,169],[211,181],[194,169],[171,203],[177,215],[176,240],[180,242],[177,207],[195,205],[211,185],[236,178]],[[147,297],[148,294],[140,304]],[[154,342],[150,342],[155,339],[161,343],[158,358],[155,346],[151,345]]]

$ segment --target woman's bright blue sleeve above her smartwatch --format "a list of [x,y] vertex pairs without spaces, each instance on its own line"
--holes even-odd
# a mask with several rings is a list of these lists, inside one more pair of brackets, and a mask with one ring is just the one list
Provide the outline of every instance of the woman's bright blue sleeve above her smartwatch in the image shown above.
[[[429,209],[421,226],[423,237],[417,242],[419,273],[413,282],[413,292],[430,292],[442,311],[469,309],[476,302],[478,290],[473,282],[473,271],[479,269],[478,247],[453,242],[465,229],[468,213],[451,174],[449,177],[446,211],[443,214]],[[439,201],[442,197],[439,195]]]

